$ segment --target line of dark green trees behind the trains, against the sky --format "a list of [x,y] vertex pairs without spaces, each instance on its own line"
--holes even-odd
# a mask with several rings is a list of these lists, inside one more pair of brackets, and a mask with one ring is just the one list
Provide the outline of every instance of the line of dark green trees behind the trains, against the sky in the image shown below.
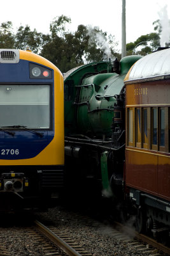
[[[11,21],[3,22],[0,26],[0,48],[25,50],[29,47],[32,52],[52,61],[62,72],[93,61],[120,60],[120,53],[115,51],[115,36],[108,35],[99,27],[84,25],[70,32],[67,29],[70,23],[69,17],[55,17],[50,23],[49,34],[45,35],[36,29],[31,30],[28,25],[20,26],[13,33]],[[153,26],[155,33],[141,35],[135,42],[127,44],[127,55],[146,55],[160,46],[160,20],[153,22]]]

